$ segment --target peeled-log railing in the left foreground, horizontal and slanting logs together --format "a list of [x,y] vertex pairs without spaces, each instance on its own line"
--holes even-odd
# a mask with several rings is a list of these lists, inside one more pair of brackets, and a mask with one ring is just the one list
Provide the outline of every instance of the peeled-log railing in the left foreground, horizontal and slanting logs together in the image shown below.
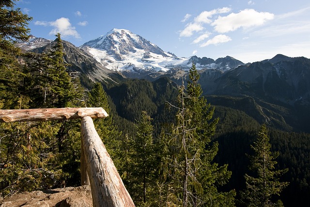
[[92,118],[104,118],[102,108],[0,110],[0,122],[81,118],[81,185],[90,185],[93,207],[134,207],[134,203],[102,143]]

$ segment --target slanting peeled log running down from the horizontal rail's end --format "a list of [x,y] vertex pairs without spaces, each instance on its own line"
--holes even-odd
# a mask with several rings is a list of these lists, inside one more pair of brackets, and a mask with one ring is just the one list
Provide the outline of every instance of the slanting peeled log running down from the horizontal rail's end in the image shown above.
[[91,117],[81,120],[82,150],[94,207],[135,207]]

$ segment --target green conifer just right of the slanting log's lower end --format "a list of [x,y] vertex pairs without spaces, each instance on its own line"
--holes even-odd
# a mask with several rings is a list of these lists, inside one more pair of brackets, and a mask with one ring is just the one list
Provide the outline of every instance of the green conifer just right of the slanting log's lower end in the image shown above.
[[133,137],[120,138],[118,172],[136,206],[158,206],[160,143],[155,141],[152,118],[146,111],[135,122]]

